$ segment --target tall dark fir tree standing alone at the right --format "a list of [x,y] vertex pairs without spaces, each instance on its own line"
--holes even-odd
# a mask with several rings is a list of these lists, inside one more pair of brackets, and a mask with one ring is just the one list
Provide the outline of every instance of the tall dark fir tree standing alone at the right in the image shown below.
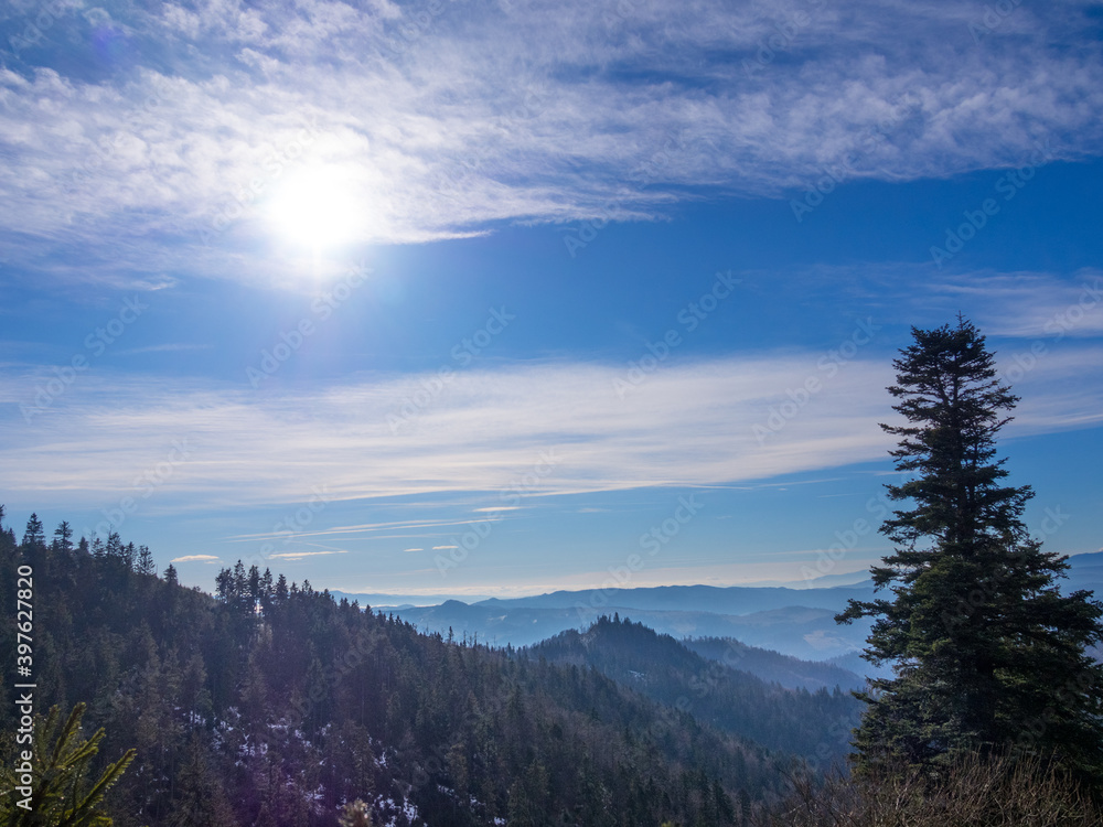
[[1103,640],[1103,605],[1059,591],[1067,558],[1022,522],[1034,492],[1005,484],[995,440],[1018,397],[967,320],[912,334],[888,389],[908,423],[881,426],[900,438],[891,455],[910,477],[886,486],[910,507],[881,526],[896,548],[872,568],[893,597],[852,600],[836,617],[876,617],[864,656],[895,674],[857,694],[869,705],[857,769],[1011,751],[1097,784],[1103,668],[1085,647]]

